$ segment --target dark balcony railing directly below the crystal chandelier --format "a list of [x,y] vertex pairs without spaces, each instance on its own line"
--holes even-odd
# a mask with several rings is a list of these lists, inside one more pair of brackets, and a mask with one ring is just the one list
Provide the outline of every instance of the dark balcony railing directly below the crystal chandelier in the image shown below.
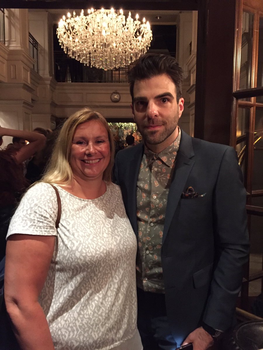
[[97,69],[70,58],[62,51],[54,51],[54,72],[57,82],[67,83],[127,83],[129,67],[113,70]]

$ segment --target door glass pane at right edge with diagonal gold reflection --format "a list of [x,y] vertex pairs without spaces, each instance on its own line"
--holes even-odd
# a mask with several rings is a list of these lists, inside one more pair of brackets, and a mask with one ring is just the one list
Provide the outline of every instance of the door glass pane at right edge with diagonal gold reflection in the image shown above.
[[263,190],[263,109],[256,109],[252,191]]

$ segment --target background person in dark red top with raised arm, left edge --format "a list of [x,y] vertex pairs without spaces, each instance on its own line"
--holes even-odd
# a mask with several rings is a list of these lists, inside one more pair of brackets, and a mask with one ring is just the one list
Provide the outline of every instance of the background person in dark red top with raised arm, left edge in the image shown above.
[[[0,133],[13,139],[28,140],[29,144],[0,151],[0,260],[5,256],[6,235],[10,219],[21,195],[29,186],[23,176],[23,162],[41,149],[45,137],[32,131],[13,130],[0,126]],[[18,143],[18,142],[17,142]]]

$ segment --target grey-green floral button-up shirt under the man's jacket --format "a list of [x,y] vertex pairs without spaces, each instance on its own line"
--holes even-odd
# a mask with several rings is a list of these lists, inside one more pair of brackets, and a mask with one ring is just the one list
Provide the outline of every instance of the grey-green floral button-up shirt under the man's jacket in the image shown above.
[[161,263],[163,226],[180,139],[179,129],[173,143],[159,154],[144,145],[137,181],[136,280],[137,286],[146,292],[164,293]]

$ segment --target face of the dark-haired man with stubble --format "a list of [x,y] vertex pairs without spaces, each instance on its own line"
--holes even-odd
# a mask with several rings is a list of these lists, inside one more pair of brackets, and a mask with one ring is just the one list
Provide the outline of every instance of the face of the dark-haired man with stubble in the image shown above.
[[178,135],[184,99],[176,101],[176,87],[167,74],[135,80],[131,105],[138,130],[155,153],[168,147]]

